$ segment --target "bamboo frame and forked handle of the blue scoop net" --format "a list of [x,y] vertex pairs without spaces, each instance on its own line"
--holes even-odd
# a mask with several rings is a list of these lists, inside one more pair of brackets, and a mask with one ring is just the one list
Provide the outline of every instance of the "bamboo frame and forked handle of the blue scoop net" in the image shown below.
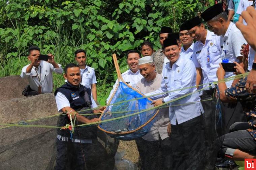
[[[110,99],[109,99],[107,105],[110,104],[110,102],[112,101],[113,97],[115,96],[115,94],[116,94],[116,92],[117,92],[117,90],[118,90],[118,87],[119,87],[119,85],[120,85],[120,82],[123,82],[123,83],[124,83],[125,85],[127,85],[129,88],[131,88],[132,90],[138,92],[138,93],[141,94],[143,97],[145,97],[144,94],[142,94],[140,91],[138,91],[137,89],[133,88],[132,86],[130,86],[129,84],[127,84],[127,83],[124,81],[124,79],[123,79],[123,77],[122,77],[122,75],[121,75],[121,72],[120,72],[119,65],[118,65],[117,55],[116,55],[116,54],[113,54],[112,56],[113,56],[115,68],[116,68],[116,71],[117,71],[117,76],[118,76],[118,82],[119,82],[119,83],[118,83],[118,85],[116,86],[116,89],[115,89],[114,93],[111,95],[111,97],[110,97]],[[148,98],[148,100],[152,101],[152,99],[150,99],[150,98]],[[105,111],[105,110],[104,110],[104,111]],[[157,115],[158,113],[159,113],[159,109],[157,109],[156,113],[155,113],[155,114],[152,116],[152,118],[149,119],[146,123],[144,123],[143,125],[137,127],[136,129],[133,129],[133,130],[131,130],[131,131],[127,131],[127,132],[112,132],[112,131],[107,131],[107,130],[105,130],[105,129],[102,129],[102,128],[100,127],[100,125],[98,125],[98,128],[99,128],[100,130],[102,130],[103,132],[106,132],[106,133],[109,133],[109,134],[116,134],[116,135],[130,134],[130,133],[133,133],[133,132],[135,132],[135,131],[137,131],[137,130],[143,128],[144,126],[146,126],[149,122],[151,122],[151,121],[156,117],[156,115]],[[106,113],[103,113],[103,114],[100,115],[100,119],[102,119],[102,117],[103,117],[104,114],[106,114]]]

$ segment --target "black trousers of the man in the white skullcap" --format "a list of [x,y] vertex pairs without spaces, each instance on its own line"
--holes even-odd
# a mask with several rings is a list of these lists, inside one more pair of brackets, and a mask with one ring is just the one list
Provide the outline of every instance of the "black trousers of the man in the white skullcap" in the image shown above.
[[161,140],[149,141],[136,139],[142,170],[169,170],[171,169],[171,142],[167,137]]

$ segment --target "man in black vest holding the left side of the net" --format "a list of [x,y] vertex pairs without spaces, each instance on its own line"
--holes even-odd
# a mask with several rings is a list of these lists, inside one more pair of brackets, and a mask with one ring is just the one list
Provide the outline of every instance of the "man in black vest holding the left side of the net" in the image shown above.
[[[59,112],[57,126],[57,159],[55,170],[59,169],[106,169],[103,161],[106,156],[104,147],[97,141],[97,126],[77,125],[98,122],[100,113],[91,110],[91,89],[80,84],[81,72],[78,65],[70,63],[64,68],[66,84],[56,91],[55,100]],[[79,113],[78,113],[79,111]]]

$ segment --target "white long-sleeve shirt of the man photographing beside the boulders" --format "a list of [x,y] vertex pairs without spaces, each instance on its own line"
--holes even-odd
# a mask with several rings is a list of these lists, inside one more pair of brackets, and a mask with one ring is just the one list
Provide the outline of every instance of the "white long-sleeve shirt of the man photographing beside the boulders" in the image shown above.
[[[59,65],[59,64],[58,64]],[[26,73],[29,65],[22,68],[21,78],[28,78],[29,86],[32,90],[38,92],[38,86],[41,86],[42,93],[51,93],[53,91],[53,72],[62,74],[63,69],[59,65],[59,69],[53,67],[52,64],[41,61],[38,69],[33,67],[30,73]]]

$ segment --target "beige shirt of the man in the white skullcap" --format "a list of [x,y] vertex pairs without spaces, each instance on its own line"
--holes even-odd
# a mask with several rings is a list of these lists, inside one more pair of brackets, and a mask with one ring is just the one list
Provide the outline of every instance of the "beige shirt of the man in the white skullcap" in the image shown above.
[[[142,78],[136,84],[136,88],[142,93],[149,93],[159,89],[161,87],[161,81],[162,76],[160,74],[157,74],[156,78],[149,82],[145,78]],[[159,113],[154,119],[156,119],[156,122],[153,124],[150,131],[142,137],[144,140],[163,140],[168,137],[167,126],[170,123],[169,107],[159,109]],[[158,138],[159,135],[161,139]]]

